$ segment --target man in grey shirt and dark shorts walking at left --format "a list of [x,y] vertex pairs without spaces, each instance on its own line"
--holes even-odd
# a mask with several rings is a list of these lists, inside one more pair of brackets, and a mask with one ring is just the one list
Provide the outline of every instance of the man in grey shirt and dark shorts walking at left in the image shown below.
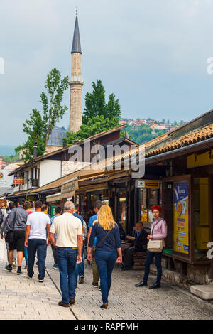
[[[26,221],[28,219],[28,212],[24,210],[23,204],[25,200],[23,198],[18,199],[18,207],[13,208],[9,215],[8,227],[9,231],[13,231],[13,241],[9,241],[9,264],[5,267],[7,271],[12,271],[13,252],[16,249],[18,255],[18,269],[17,275],[21,275],[21,264],[23,260],[23,247],[25,239]],[[7,233],[7,235],[9,232]]]

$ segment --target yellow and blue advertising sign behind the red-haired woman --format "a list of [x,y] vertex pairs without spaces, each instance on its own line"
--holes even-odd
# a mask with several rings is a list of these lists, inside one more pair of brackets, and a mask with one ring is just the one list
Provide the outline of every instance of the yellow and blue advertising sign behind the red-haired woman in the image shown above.
[[174,251],[189,254],[189,188],[174,183]]

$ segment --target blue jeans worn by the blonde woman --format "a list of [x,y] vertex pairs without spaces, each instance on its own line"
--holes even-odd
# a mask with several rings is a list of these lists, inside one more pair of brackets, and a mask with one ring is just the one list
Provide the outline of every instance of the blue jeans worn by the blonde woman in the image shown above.
[[116,263],[116,257],[116,251],[106,252],[102,250],[96,250],[95,252],[95,261],[101,280],[103,303],[108,303],[108,295],[111,288],[111,273]]

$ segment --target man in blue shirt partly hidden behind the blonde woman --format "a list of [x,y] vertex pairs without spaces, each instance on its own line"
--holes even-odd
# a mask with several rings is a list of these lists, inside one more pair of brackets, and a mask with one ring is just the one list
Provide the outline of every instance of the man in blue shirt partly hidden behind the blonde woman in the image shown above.
[[[89,237],[91,235],[92,232],[92,226],[95,220],[97,220],[97,216],[98,216],[98,212],[100,210],[100,208],[102,207],[102,201],[101,200],[97,200],[96,202],[94,202],[94,212],[96,213],[96,215],[92,216],[89,218],[89,232],[88,232],[88,244],[89,244]],[[97,269],[97,265],[95,262],[95,249],[96,249],[96,243],[97,243],[97,238],[94,238],[94,243],[92,246],[92,275],[93,275],[93,282],[92,282],[92,286],[98,288],[99,286],[99,272]]]

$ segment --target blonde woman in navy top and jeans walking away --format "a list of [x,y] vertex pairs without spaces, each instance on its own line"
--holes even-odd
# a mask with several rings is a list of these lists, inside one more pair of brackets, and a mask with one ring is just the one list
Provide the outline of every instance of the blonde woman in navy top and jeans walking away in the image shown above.
[[93,223],[87,256],[89,261],[92,261],[92,245],[94,243],[94,237],[97,237],[95,262],[101,279],[103,300],[103,305],[100,307],[107,308],[108,295],[111,287],[111,273],[114,269],[114,264],[116,262],[122,262],[119,226],[114,222],[109,205],[102,205],[97,220]]

